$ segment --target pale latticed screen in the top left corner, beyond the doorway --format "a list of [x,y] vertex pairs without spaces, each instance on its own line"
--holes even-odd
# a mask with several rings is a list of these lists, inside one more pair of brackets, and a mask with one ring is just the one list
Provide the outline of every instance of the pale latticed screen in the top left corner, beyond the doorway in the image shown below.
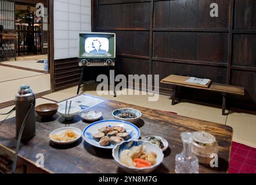
[[5,30],[15,29],[15,3],[0,0],[0,25]]

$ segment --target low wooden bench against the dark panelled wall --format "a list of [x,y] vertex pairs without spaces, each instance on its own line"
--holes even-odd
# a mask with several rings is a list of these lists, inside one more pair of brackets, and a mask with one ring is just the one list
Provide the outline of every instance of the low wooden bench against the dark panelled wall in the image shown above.
[[[173,78],[174,77],[174,78]],[[184,78],[186,76],[178,76],[178,75],[170,75],[163,80],[161,80],[160,83],[165,84],[171,84],[173,86],[173,93],[172,93],[172,105],[175,105],[175,98],[176,98],[176,87],[189,87],[189,88],[197,88],[201,90],[207,90],[207,91],[215,91],[215,92],[221,92],[222,93],[222,115],[225,115],[225,109],[226,109],[226,94],[235,94],[235,95],[244,95],[244,87],[241,86],[233,86],[229,84],[221,84],[221,83],[211,83],[210,87],[199,87],[194,86],[193,84],[190,85],[188,83],[185,83]],[[168,79],[168,82],[166,81]],[[175,79],[175,82],[172,82],[170,79]],[[181,83],[179,82],[180,79]],[[184,82],[184,83],[182,83]]]

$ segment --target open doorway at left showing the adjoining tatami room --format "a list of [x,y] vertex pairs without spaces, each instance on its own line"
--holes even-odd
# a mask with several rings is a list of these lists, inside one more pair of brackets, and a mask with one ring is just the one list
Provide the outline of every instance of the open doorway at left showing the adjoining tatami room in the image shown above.
[[[29,2],[29,3],[27,3]],[[49,1],[42,17],[39,1],[0,0],[0,108],[12,105],[19,86],[28,84],[38,96],[51,92],[49,65]]]

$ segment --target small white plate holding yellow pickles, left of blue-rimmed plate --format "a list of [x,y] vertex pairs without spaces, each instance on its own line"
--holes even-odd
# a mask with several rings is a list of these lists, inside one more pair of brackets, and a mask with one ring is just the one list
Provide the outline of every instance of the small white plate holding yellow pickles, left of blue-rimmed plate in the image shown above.
[[[54,139],[50,138],[50,135],[52,135],[52,134],[60,135],[60,134],[62,134],[62,132],[65,132],[67,129],[71,129],[71,131],[75,132],[75,134],[77,134],[77,138],[73,139],[73,140],[68,140],[68,141],[58,141],[58,140],[54,140]],[[49,134],[49,138],[52,140],[52,142],[55,142],[56,144],[66,145],[66,144],[70,144],[70,143],[76,142],[79,138],[81,138],[81,135],[82,135],[82,131],[79,128],[63,127],[63,128],[58,128],[55,131],[52,131],[51,134]]]

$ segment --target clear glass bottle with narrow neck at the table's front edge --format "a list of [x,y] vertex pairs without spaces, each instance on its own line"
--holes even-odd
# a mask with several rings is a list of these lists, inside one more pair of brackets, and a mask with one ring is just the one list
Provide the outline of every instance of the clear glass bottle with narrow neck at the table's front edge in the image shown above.
[[181,132],[183,150],[175,157],[176,173],[199,173],[199,160],[191,151],[192,133]]

